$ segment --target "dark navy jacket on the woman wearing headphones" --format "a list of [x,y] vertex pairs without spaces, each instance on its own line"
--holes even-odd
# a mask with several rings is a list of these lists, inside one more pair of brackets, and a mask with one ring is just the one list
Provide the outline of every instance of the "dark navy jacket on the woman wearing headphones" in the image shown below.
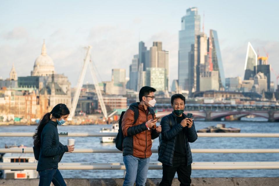
[[49,121],[44,126],[41,134],[41,149],[37,171],[58,168],[59,155],[65,152],[68,152],[68,147],[59,142],[57,123]]

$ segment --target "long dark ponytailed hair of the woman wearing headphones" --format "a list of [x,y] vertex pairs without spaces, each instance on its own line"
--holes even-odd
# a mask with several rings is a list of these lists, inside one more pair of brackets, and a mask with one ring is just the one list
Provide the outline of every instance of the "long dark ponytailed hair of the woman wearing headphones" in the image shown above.
[[69,113],[70,113],[70,111],[69,111],[68,107],[63,103],[57,104],[55,107],[53,107],[51,112],[46,113],[42,117],[42,119],[40,120],[40,122],[38,124],[38,127],[36,128],[36,132],[33,135],[34,146],[35,147],[40,147],[40,145],[41,145],[41,134],[42,134],[43,128],[50,121],[51,115],[53,117],[59,119],[61,116],[68,115]]

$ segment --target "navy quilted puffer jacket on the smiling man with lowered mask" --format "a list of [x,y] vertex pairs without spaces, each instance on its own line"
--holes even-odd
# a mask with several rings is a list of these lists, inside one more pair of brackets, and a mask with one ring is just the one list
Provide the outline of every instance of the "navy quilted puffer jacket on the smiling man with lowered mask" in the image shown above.
[[[186,117],[184,113],[183,117]],[[187,153],[187,165],[190,165],[193,162],[193,160],[189,142],[192,143],[196,141],[198,138],[194,121],[191,128],[188,128],[187,126],[183,128],[183,126],[180,123],[177,123],[177,117],[176,115],[174,115],[174,112],[172,112],[171,114],[163,117],[160,124],[162,126],[162,133],[159,137],[160,145],[158,147],[158,161],[162,162],[163,164],[172,166],[176,137],[179,134],[179,132],[183,130],[185,134],[184,136],[185,148]]]

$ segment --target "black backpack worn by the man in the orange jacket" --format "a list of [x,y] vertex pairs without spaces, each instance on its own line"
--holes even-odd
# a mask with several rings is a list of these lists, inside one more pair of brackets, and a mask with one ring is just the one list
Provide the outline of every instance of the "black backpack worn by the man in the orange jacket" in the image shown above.
[[[136,123],[137,118],[139,117],[139,109],[135,108],[135,107],[130,107],[128,109],[133,110],[134,112],[134,123]],[[123,151],[123,140],[124,140],[124,136],[123,136],[123,132],[122,132],[122,117],[124,115],[126,111],[123,111],[121,113],[120,119],[118,120],[118,125],[119,125],[119,129],[118,129],[118,133],[117,136],[115,138],[115,146],[118,150]]]

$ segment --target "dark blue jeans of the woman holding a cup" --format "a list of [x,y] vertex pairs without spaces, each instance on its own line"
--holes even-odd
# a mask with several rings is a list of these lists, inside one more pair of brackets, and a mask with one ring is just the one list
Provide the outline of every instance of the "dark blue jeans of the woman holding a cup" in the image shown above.
[[49,186],[51,182],[54,186],[66,186],[66,183],[57,168],[45,169],[39,171],[40,183],[39,186]]

